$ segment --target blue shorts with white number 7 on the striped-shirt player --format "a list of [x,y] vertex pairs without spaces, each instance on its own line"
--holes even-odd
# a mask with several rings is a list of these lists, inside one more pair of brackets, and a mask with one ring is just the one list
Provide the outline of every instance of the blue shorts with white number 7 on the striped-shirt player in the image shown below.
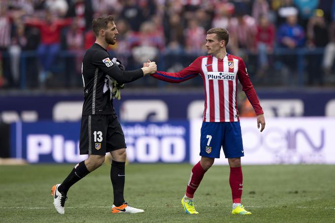
[[220,158],[221,147],[226,158],[244,157],[239,122],[203,122],[200,137],[200,156]]

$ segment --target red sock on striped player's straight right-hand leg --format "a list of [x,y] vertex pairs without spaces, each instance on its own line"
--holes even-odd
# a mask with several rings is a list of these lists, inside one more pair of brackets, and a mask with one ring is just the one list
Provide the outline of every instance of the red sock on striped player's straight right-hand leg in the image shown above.
[[242,167],[231,167],[229,184],[232,189],[233,203],[241,203],[243,175]]

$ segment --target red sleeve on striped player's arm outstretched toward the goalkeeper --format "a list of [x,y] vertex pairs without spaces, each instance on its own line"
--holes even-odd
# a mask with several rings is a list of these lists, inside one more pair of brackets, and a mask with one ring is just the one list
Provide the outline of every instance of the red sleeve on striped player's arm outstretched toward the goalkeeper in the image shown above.
[[165,71],[157,71],[151,76],[170,83],[181,83],[198,76],[201,69],[200,67],[201,67],[201,59],[199,57],[188,67],[185,67],[179,72],[172,73]]

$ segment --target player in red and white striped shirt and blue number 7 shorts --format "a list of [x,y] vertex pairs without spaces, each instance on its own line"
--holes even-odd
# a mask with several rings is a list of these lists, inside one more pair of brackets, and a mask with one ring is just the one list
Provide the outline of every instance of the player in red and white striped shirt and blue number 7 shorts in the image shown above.
[[261,132],[265,127],[265,118],[243,60],[226,51],[228,41],[227,30],[212,28],[208,30],[206,36],[205,46],[208,56],[198,57],[188,67],[176,73],[157,71],[152,74],[157,79],[171,83],[180,83],[198,75],[201,75],[203,80],[205,103],[201,127],[201,160],[193,167],[186,193],[181,200],[188,214],[198,214],[193,203],[194,193],[203,175],[214,163],[214,159],[220,158],[221,147],[230,165],[232,214],[251,214],[241,204],[243,188],[241,157],[244,156],[244,150],[236,102],[237,80],[256,112],[257,126]]

